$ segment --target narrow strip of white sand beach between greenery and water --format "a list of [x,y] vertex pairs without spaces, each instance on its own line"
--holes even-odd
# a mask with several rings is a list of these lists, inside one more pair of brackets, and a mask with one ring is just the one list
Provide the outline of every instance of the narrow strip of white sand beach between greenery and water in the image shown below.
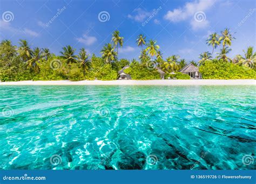
[[0,82],[0,86],[68,86],[68,85],[85,85],[85,86],[242,86],[256,85],[254,79],[237,79],[237,80],[85,80],[85,81],[17,81],[17,82]]

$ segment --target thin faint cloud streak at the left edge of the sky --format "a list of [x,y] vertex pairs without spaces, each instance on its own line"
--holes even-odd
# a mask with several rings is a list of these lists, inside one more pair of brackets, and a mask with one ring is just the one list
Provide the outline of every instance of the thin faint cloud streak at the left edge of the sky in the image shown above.
[[11,23],[6,23],[3,20],[0,20],[0,26],[1,26],[2,30],[13,32],[15,34],[28,34],[29,36],[32,36],[32,37],[38,37],[39,36],[39,33],[35,32],[35,31],[32,31],[28,28],[17,29],[16,27],[11,26]]

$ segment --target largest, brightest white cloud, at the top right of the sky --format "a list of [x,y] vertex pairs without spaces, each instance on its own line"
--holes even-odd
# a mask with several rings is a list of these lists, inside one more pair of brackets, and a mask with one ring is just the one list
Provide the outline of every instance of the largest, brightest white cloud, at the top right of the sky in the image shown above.
[[[191,3],[186,3],[183,8],[168,11],[164,16],[164,19],[169,20],[170,22],[180,22],[192,18],[190,22],[192,29],[203,29],[209,25],[208,20],[206,20],[204,11],[210,9],[214,5],[214,3],[214,0],[199,0]],[[197,12],[204,13],[203,21],[196,21],[194,15]]]

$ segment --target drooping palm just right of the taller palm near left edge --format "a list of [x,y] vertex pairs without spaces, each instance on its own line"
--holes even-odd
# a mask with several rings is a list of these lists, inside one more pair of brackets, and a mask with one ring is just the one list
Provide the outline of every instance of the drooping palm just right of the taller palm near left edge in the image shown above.
[[38,47],[34,48],[31,56],[32,58],[27,61],[28,68],[33,69],[35,72],[39,72],[39,63],[42,59],[41,49]]

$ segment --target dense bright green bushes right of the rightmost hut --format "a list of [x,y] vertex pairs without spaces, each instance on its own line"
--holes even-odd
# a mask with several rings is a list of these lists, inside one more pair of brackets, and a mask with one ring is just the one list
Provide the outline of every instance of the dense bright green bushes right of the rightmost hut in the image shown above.
[[256,72],[230,62],[219,60],[218,62],[206,61],[199,67],[203,79],[256,79]]

